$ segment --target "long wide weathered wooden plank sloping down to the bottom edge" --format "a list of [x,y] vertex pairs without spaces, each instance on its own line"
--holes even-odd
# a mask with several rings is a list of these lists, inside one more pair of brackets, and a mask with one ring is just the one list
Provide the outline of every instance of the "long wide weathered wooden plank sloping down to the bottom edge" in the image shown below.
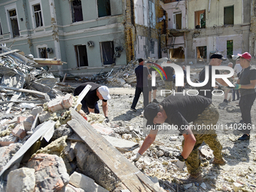
[[68,124],[130,191],[163,191],[94,130],[75,109]]

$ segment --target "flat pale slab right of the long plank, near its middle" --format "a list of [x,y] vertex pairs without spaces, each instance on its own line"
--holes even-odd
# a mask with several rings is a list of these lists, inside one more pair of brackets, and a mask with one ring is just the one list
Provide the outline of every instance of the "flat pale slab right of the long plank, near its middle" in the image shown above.
[[139,143],[131,142],[124,139],[118,139],[112,136],[103,136],[111,145],[118,149],[118,151],[133,151],[139,148]]

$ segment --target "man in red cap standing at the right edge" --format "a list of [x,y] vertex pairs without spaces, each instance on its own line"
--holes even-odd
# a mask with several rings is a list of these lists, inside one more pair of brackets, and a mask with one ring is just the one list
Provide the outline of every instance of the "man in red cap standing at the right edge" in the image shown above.
[[[239,101],[239,107],[242,113],[242,125],[243,136],[238,140],[250,139],[251,130],[251,106],[256,98],[256,69],[251,66],[251,55],[248,52],[237,54],[240,59],[240,65],[242,66],[242,72],[240,72],[239,79],[236,82],[235,90],[239,90],[241,98]],[[246,128],[246,129],[244,129]]]

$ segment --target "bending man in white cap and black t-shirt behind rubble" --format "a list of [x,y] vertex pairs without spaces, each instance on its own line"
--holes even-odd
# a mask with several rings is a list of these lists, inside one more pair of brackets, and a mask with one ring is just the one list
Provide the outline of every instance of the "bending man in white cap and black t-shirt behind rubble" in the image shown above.
[[83,90],[84,87],[86,87],[88,84],[90,84],[92,87],[84,96],[84,99],[82,99],[82,110],[89,114],[90,112],[94,112],[96,114],[99,114],[99,106],[98,101],[99,99],[102,100],[102,111],[105,115],[105,122],[109,122],[108,120],[108,99],[111,98],[109,95],[108,87],[101,86],[99,84],[95,84],[93,82],[87,82],[85,84],[81,84],[78,87],[75,88],[74,96],[78,96]]

